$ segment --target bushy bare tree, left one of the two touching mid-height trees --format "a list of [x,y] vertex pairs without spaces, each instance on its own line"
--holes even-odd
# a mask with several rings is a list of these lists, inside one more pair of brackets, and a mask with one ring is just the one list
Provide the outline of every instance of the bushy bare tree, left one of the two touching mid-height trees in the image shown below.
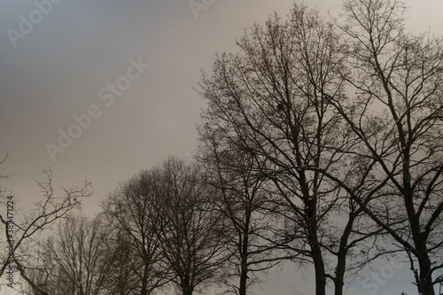
[[132,260],[132,267],[122,276],[134,273],[139,287],[133,288],[142,295],[158,291],[168,283],[170,275],[169,268],[161,260],[158,232],[163,218],[158,205],[160,182],[158,170],[141,171],[122,182],[102,205],[107,220],[129,244],[132,257],[128,258]]

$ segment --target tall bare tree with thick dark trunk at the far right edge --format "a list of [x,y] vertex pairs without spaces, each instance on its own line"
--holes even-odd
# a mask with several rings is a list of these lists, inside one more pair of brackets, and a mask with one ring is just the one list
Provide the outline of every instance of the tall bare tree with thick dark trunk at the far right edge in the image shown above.
[[441,39],[406,32],[404,10],[396,0],[345,1],[340,72],[352,98],[328,96],[360,141],[355,157],[383,185],[370,202],[354,199],[412,254],[419,293],[433,295],[443,268],[443,50]]

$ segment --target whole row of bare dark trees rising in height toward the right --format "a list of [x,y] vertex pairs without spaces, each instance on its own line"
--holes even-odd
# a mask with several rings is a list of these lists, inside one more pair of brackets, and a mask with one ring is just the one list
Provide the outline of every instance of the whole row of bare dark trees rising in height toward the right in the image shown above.
[[[292,261],[314,268],[315,294],[328,284],[342,295],[361,268],[397,253],[418,293],[434,295],[443,51],[406,30],[405,9],[345,0],[326,19],[294,4],[287,19],[246,30],[238,53],[202,74],[192,163],[139,172],[93,220],[71,213],[86,188],[54,198],[42,186],[15,261],[32,293],[245,295],[260,272]],[[55,235],[30,238],[57,220]]]

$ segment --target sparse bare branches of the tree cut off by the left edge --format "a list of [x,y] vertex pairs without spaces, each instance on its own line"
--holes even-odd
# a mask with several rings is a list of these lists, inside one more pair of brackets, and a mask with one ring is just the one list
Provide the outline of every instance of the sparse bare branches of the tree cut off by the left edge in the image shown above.
[[[82,187],[62,188],[63,193],[58,195],[52,185],[52,173],[50,169],[43,170],[46,182],[37,182],[43,195],[43,199],[34,203],[34,208],[29,213],[15,211],[17,202],[12,196],[2,196],[2,203],[6,206],[7,201],[12,204],[12,214],[0,214],[0,221],[4,225],[4,235],[10,248],[13,248],[13,256],[8,252],[2,254],[0,276],[9,266],[15,266],[19,275],[31,286],[35,294],[47,294],[42,282],[35,281],[32,277],[35,268],[36,257],[33,256],[39,245],[39,238],[43,233],[64,218],[67,213],[81,206],[81,198],[89,197],[90,183],[85,182]],[[12,231],[8,231],[12,227]],[[13,257],[11,259],[11,257]]]

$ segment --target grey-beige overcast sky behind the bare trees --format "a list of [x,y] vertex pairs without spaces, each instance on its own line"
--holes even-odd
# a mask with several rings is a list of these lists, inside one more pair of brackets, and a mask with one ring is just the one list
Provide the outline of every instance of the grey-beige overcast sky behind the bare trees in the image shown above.
[[[205,106],[192,90],[199,69],[211,69],[215,52],[236,51],[245,27],[275,10],[286,15],[293,3],[195,1],[214,3],[193,11],[188,0],[52,0],[38,12],[45,1],[0,0],[0,158],[9,153],[4,172],[13,174],[0,185],[21,207],[39,198],[32,179],[43,180],[45,167],[57,186],[92,182],[84,204],[96,213],[118,182],[168,155],[187,159]],[[341,1],[306,3],[326,13]],[[443,35],[441,0],[407,3],[408,28]],[[254,294],[313,293],[313,283],[287,269]],[[380,288],[397,286],[397,294],[406,282],[401,291],[415,294],[411,274],[400,274]],[[358,291],[369,294],[359,281],[348,294]]]

